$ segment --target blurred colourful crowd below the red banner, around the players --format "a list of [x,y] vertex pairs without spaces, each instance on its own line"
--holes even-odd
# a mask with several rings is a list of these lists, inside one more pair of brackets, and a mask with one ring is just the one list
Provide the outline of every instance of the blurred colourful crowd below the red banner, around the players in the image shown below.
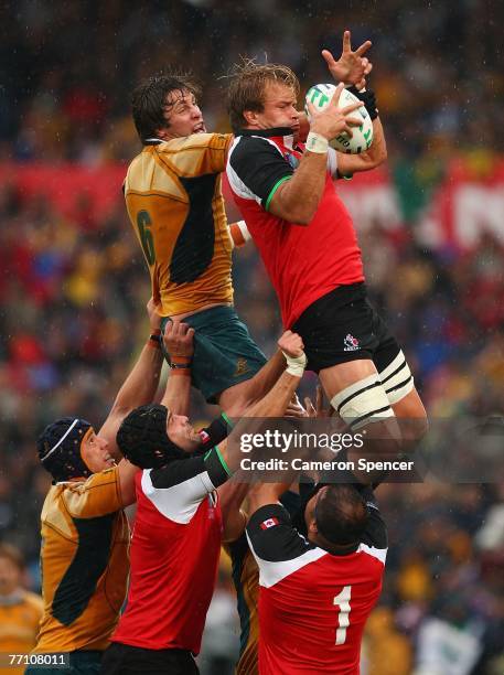
[[[149,277],[120,197],[105,219],[83,228],[42,194],[23,200],[6,185],[0,218],[8,225],[0,231],[0,539],[23,550],[36,589],[39,515],[50,480],[34,439],[62,415],[78,414],[96,426],[105,419],[148,335]],[[379,228],[361,243],[371,293],[405,345],[433,424],[449,418],[453,430],[458,420],[492,420],[504,392],[504,251],[485,239],[447,261],[419,249],[408,234]],[[253,245],[234,256],[236,307],[271,354],[280,323],[269,281]],[[315,376],[304,379],[302,393],[312,394]],[[214,413],[199,395],[193,405],[199,419]],[[502,450],[504,431],[494,419]],[[454,465],[458,450],[451,441]],[[382,607],[366,639],[375,675],[406,674],[421,654],[428,660],[429,641],[441,640],[439,626],[429,632],[432,622],[447,632],[446,644],[435,645],[440,657],[448,647],[458,652],[458,641],[473,645],[463,652],[469,666],[458,664],[453,673],[502,672],[471,668],[481,660],[497,663],[497,655],[495,667],[502,667],[504,658],[503,484],[448,482],[379,489],[390,556]],[[227,611],[233,603],[223,559],[205,652],[213,663],[217,650],[219,672],[223,644],[230,645],[224,650],[228,660],[236,647],[229,631],[236,614]],[[388,650],[397,651],[392,671],[380,656]],[[431,673],[428,666],[418,673]]]

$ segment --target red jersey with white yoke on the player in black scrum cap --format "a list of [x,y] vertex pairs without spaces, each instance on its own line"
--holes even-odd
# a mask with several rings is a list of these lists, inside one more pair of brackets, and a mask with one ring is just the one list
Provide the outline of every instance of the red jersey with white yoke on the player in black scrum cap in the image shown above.
[[215,449],[138,472],[128,604],[112,642],[200,652],[221,550],[214,490],[227,478]]

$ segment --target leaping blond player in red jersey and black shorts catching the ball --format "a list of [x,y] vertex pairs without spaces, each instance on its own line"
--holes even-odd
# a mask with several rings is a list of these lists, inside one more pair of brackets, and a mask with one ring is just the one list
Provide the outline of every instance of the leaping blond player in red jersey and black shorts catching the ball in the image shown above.
[[[345,40],[350,49],[348,32]],[[332,55],[323,56],[331,71]],[[303,340],[307,367],[319,374],[352,430],[366,427],[367,450],[395,454],[423,436],[427,416],[403,351],[367,300],[354,225],[334,188],[333,176],[367,171],[387,157],[369,90],[355,89],[373,119],[371,148],[351,156],[329,147],[357,125],[355,105],[337,107],[342,89],[323,111],[310,108],[304,146],[297,140],[294,73],[245,62],[229,86],[236,139],[227,176],[277,291],[283,325]]]

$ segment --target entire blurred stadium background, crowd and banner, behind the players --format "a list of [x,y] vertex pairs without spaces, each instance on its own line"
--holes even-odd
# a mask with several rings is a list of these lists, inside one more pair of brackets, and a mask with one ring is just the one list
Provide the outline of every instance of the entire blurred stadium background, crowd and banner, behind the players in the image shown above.
[[[227,130],[219,76],[239,54],[289,64],[305,89],[326,79],[320,49],[339,55],[344,28],[354,46],[373,40],[389,161],[342,186],[369,289],[431,417],[502,413],[504,6],[26,0],[0,12],[0,539],[22,548],[33,589],[50,484],[34,438],[62,415],[99,425],[148,330],[148,272],[120,183],[139,149],[130,92],[168,64],[193,68],[207,128]],[[270,354],[277,303],[253,247],[235,253],[234,283]],[[451,452],[457,463],[457,443]],[[390,554],[363,673],[504,673],[504,484],[378,496]],[[233,608],[223,561],[205,672],[227,672]]]

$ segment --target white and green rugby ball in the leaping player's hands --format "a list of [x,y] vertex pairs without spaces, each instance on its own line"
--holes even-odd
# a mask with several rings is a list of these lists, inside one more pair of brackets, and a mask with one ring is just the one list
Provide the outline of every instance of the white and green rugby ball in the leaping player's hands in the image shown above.
[[[333,84],[320,84],[310,87],[304,98],[304,111],[309,121],[310,113],[308,110],[307,103],[309,101],[319,110],[323,110],[331,103],[335,90],[336,87]],[[343,89],[340,96],[339,106],[340,108],[344,108],[345,106],[350,106],[356,101],[358,101],[358,98],[355,96],[355,94],[352,94],[352,92],[348,92],[348,89]],[[364,106],[361,106],[351,113],[351,117],[356,117],[357,119],[362,118],[362,125],[360,127],[352,127],[352,138],[350,138],[347,133],[342,132],[336,136],[336,138],[330,140],[329,144],[339,152],[358,154],[360,152],[367,150],[373,142],[373,122],[371,121],[369,114]]]

